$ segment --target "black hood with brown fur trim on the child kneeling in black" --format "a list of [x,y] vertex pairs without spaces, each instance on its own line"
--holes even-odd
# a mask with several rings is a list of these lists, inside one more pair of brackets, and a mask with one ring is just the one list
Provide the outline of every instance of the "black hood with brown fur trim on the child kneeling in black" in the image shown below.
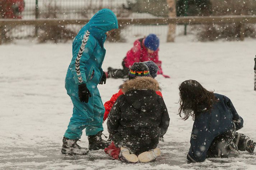
[[129,105],[140,111],[151,110],[160,97],[155,92],[160,90],[159,84],[152,77],[136,77],[127,80],[120,89],[125,93],[124,96]]

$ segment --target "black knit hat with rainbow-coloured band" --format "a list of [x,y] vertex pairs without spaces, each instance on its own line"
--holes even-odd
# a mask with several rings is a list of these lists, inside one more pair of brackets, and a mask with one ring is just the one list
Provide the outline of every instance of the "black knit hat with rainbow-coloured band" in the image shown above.
[[149,77],[149,68],[143,62],[134,62],[130,67],[128,78],[134,79],[136,76],[147,76]]

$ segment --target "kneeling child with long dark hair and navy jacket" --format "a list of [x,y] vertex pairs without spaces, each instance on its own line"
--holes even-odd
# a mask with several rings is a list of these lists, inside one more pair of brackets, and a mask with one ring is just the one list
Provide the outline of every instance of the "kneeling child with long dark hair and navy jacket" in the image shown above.
[[253,152],[256,143],[236,132],[243,127],[243,119],[228,97],[206,90],[196,80],[183,81],[179,90],[178,114],[183,120],[190,116],[194,120],[188,161],[237,155],[239,150]]

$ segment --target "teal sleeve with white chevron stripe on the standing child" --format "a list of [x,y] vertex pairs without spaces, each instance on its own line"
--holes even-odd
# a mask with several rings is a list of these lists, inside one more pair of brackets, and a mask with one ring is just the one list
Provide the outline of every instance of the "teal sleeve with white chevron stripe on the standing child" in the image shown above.
[[[76,42],[79,40],[76,40]],[[87,82],[90,74],[90,65],[87,62],[93,54],[96,41],[92,35],[88,36],[88,40],[84,43],[84,40],[80,40],[80,43],[73,44],[73,56],[75,57],[75,64],[72,70],[74,70],[74,79],[76,84],[83,84]],[[84,43],[84,47],[83,47]],[[82,52],[82,53],[81,53]]]

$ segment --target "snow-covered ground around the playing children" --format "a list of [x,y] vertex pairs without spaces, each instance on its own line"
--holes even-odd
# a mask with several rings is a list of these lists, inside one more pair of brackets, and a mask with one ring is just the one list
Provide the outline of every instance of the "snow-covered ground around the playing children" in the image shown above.
[[[64,88],[71,60],[71,42],[36,44],[23,41],[0,46],[0,169],[256,169],[256,155],[241,152],[236,158],[208,159],[187,164],[193,121],[183,121],[178,112],[178,85],[187,79],[228,96],[245,124],[240,131],[256,140],[256,92],[253,91],[253,58],[256,40],[209,42],[177,39],[160,44],[163,71],[158,76],[171,118],[162,155],[148,164],[126,164],[111,160],[103,150],[85,156],[61,155],[62,137],[73,105]],[[132,46],[106,43],[103,69],[121,67]],[[121,79],[98,85],[103,102],[118,91]],[[108,135],[106,122],[104,134]],[[85,135],[79,142],[87,147]]]

